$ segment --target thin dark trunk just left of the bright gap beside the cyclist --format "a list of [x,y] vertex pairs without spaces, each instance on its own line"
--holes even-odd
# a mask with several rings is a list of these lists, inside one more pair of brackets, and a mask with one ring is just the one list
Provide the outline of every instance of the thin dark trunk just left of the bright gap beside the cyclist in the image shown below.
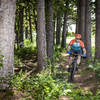
[[61,44],[63,48],[66,47],[66,32],[67,32],[67,12],[64,13],[64,24],[63,24],[62,44]]

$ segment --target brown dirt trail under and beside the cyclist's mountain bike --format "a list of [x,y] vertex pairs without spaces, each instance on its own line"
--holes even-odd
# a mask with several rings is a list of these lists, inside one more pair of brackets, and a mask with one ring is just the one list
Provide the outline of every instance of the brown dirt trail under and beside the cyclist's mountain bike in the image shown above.
[[[64,68],[68,65],[68,55],[63,54],[61,59],[61,62],[63,62],[62,66]],[[85,61],[83,61],[79,66],[78,72],[75,74],[75,81],[73,83],[82,89],[93,92],[93,94],[96,93],[100,85],[99,80],[95,77],[95,73],[93,70],[87,68]]]

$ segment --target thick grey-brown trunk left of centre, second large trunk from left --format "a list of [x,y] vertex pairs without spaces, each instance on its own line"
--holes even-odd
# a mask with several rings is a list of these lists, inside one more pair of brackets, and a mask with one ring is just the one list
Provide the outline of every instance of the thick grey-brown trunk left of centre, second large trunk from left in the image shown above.
[[46,32],[45,32],[45,1],[37,0],[37,47],[38,68],[41,70],[46,66]]

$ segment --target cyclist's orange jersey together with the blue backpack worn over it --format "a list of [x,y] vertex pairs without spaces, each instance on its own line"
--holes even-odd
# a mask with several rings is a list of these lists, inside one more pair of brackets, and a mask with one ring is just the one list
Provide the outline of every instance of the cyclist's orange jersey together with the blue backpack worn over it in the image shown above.
[[76,40],[73,39],[71,40],[69,45],[71,46],[71,50],[73,51],[80,51],[82,48],[84,48],[84,43],[81,40],[79,40],[79,42],[76,42]]

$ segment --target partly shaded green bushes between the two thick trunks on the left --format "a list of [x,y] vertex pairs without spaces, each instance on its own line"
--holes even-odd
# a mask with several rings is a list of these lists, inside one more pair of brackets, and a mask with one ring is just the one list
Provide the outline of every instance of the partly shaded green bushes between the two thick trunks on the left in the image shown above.
[[32,55],[37,53],[35,44],[30,40],[24,40],[24,47],[15,50],[15,65],[21,64],[21,60],[32,59]]

